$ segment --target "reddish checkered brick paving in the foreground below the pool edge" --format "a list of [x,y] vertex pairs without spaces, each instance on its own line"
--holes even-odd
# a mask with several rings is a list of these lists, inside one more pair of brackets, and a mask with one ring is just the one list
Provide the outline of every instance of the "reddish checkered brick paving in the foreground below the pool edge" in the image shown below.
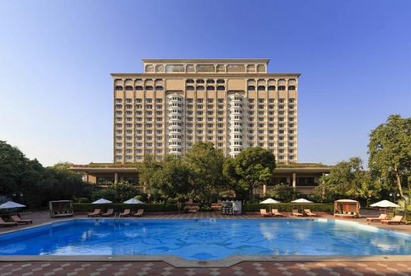
[[175,268],[165,262],[12,262],[6,275],[411,275],[410,262],[242,262],[229,268]]

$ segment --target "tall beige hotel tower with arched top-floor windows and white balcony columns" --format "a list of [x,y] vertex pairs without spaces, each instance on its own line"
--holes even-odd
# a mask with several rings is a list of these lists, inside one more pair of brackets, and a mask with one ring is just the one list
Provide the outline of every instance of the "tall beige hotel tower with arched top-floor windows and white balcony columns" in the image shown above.
[[114,162],[184,155],[197,141],[227,157],[260,146],[298,159],[298,77],[269,59],[144,59],[142,74],[112,74]]

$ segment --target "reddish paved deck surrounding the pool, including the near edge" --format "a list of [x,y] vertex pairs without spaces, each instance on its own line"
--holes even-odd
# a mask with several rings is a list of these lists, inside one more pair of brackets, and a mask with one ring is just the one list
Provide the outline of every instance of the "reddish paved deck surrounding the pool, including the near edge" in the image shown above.
[[[359,219],[349,219],[360,224],[388,228],[411,234],[410,225],[383,225],[367,223],[366,217],[379,213],[366,210]],[[82,219],[86,215],[75,215],[66,219]],[[334,219],[322,213],[322,218]],[[0,233],[18,230],[52,221],[48,212],[28,213],[22,219],[33,219],[33,224],[13,228],[0,228]],[[287,217],[286,217],[287,218]],[[136,218],[124,218],[136,219]],[[221,215],[211,213],[189,213],[175,215],[146,215],[144,219],[262,219],[259,215]],[[267,219],[267,218],[265,218]],[[280,218],[272,218],[280,219]],[[347,220],[347,219],[343,219]],[[223,262],[185,261],[178,257],[136,256],[0,256],[0,276],[6,275],[410,275],[411,256],[238,256]],[[41,259],[44,258],[44,259]],[[164,260],[166,262],[164,262]]]

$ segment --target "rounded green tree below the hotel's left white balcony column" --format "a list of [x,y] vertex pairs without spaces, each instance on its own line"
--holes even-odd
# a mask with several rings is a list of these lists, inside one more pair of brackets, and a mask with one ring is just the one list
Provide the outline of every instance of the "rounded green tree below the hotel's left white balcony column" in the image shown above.
[[190,170],[180,157],[169,155],[164,166],[153,175],[153,188],[160,190],[166,201],[184,199],[192,190]]

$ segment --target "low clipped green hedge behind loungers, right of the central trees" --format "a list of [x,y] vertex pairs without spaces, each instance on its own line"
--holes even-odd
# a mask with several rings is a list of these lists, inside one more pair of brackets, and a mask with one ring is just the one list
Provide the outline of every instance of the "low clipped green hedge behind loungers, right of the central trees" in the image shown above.
[[295,209],[300,210],[300,212],[304,209],[309,209],[312,212],[334,212],[334,204],[245,204],[243,208],[245,212],[260,212],[260,209],[278,209],[279,212],[291,212]]

